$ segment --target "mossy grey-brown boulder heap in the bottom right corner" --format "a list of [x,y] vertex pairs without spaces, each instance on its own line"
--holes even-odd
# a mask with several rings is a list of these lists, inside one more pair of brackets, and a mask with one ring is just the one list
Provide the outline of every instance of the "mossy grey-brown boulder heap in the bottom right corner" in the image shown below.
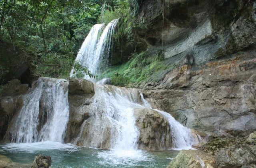
[[212,154],[218,168],[253,168],[256,164],[255,132],[241,138],[216,138],[201,150]]

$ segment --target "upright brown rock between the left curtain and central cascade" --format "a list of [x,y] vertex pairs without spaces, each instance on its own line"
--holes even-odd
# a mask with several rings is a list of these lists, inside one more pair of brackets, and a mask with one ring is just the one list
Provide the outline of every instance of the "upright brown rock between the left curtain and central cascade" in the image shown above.
[[71,78],[68,85],[70,118],[67,125],[66,142],[74,143],[84,120],[90,117],[90,104],[94,98],[94,84],[85,79]]

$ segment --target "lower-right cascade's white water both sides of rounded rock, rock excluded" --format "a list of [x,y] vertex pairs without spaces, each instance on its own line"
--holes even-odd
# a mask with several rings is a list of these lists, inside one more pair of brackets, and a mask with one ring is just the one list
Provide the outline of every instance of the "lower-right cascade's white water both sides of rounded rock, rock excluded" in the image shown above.
[[94,91],[94,102],[90,105],[91,117],[82,124],[75,144],[117,151],[137,150],[140,132],[136,126],[138,116],[135,116],[134,110],[138,108],[149,108],[152,114],[159,113],[168,121],[168,137],[172,139],[170,148],[190,148],[192,144],[199,142],[190,129],[177,122],[170,114],[152,109],[138,89],[94,84]]

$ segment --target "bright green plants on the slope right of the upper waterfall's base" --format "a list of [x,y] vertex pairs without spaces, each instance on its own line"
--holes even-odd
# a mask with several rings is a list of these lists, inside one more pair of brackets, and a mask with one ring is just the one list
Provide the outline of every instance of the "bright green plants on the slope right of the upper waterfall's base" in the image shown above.
[[[111,66],[99,78],[110,78],[116,86],[139,86],[146,82],[157,82],[168,70],[176,65],[162,60],[160,54],[141,52],[125,64]],[[118,74],[118,75],[117,75]]]

